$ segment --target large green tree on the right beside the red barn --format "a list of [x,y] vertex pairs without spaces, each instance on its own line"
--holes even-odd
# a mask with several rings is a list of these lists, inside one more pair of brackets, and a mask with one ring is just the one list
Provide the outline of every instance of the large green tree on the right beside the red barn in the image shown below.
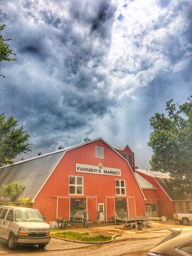
[[150,118],[153,132],[152,170],[170,172],[174,188],[192,195],[192,96],[184,104],[167,102],[168,116],[156,113]]

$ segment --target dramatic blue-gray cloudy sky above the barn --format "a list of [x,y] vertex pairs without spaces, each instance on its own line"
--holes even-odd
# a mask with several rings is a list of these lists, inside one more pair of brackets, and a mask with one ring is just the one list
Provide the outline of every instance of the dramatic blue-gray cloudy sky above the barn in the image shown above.
[[191,0],[0,0],[15,62],[1,62],[0,112],[32,152],[102,137],[150,168],[149,119],[192,94]]

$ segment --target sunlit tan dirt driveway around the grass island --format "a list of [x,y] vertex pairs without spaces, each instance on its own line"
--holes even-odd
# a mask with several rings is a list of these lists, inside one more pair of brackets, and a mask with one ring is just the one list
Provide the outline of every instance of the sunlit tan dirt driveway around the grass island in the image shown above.
[[[39,256],[146,256],[151,248],[158,244],[164,237],[170,234],[168,228],[185,227],[177,221],[172,219],[162,222],[160,220],[152,221],[152,226],[149,228],[142,228],[142,230],[132,229],[127,230],[123,228],[124,225],[117,225],[112,222],[102,222],[101,225],[90,223],[88,228],[83,228],[82,223],[74,223],[74,227],[63,228],[58,230],[68,231],[87,231],[89,233],[106,234],[114,237],[114,242],[103,244],[87,244],[83,242],[70,242],[53,238],[46,246],[46,250],[39,250],[37,246],[32,247],[19,247],[14,251],[15,256],[31,256],[35,253]],[[52,233],[54,236],[54,232]],[[7,256],[13,255],[12,251],[8,250],[6,243],[0,243],[0,255]]]

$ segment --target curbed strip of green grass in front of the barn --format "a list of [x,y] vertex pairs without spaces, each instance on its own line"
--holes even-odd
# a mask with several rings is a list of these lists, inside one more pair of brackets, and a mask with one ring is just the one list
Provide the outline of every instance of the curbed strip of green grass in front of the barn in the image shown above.
[[88,232],[63,231],[56,232],[53,236],[72,241],[80,242],[108,242],[112,240],[112,236],[89,234]]

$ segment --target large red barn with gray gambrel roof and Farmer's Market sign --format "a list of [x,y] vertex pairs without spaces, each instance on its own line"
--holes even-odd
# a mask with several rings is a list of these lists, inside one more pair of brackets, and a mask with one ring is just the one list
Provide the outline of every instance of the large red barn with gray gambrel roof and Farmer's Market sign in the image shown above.
[[90,222],[96,219],[96,209],[101,220],[110,220],[115,214],[120,218],[145,216],[145,197],[129,157],[102,138],[84,141],[0,168],[0,188],[19,181],[26,188],[17,202],[30,197],[31,207],[38,208],[47,222],[68,219],[71,212],[80,220],[84,208]]

